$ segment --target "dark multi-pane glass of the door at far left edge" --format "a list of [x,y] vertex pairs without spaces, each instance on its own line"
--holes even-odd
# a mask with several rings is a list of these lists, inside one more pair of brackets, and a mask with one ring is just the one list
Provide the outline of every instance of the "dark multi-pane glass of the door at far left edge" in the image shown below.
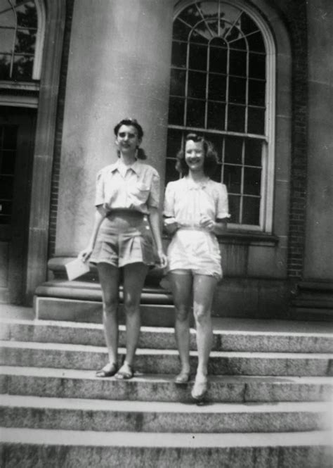
[[17,131],[16,125],[0,125],[0,224],[11,223]]

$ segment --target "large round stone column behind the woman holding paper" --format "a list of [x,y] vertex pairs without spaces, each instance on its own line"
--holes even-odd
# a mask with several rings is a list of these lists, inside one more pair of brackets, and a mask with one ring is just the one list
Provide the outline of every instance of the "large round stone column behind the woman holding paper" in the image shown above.
[[[148,163],[164,180],[174,2],[74,3],[55,255],[76,255],[91,234],[96,172],[117,160],[113,127],[143,126]],[[163,187],[162,187],[163,188]]]

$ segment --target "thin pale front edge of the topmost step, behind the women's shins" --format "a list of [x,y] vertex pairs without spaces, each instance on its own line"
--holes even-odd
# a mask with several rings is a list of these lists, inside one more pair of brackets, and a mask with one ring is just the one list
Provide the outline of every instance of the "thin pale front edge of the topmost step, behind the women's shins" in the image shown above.
[[[29,325],[34,327],[58,327],[58,328],[75,328],[75,329],[85,329],[85,330],[100,330],[103,332],[103,324],[95,324],[91,322],[65,322],[61,320],[24,320],[24,319],[1,319],[3,324],[18,324],[18,325]],[[119,331],[126,331],[126,326],[120,324]],[[173,327],[148,327],[142,326],[141,331],[151,332],[151,333],[165,333],[174,335]],[[191,334],[196,334],[194,328],[190,329]],[[311,332],[306,331],[254,331],[254,330],[230,330],[230,329],[214,329],[213,333],[216,335],[239,335],[239,336],[290,336],[290,337],[304,337],[304,338],[325,338],[332,340],[333,343],[333,334],[331,333],[320,333],[320,332]]]

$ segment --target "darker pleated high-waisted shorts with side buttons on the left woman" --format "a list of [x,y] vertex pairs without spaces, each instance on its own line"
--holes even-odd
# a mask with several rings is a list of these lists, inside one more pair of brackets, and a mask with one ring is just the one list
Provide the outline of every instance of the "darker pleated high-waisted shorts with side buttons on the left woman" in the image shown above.
[[129,263],[154,265],[152,232],[147,216],[133,210],[112,211],[100,225],[89,261],[115,267]]

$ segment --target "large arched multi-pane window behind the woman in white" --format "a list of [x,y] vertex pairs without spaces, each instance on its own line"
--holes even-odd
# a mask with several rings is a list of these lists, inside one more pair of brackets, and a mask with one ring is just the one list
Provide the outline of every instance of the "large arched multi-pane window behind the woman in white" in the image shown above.
[[180,3],[174,18],[166,182],[190,131],[218,151],[231,223],[270,232],[274,167],[273,38],[242,1]]

